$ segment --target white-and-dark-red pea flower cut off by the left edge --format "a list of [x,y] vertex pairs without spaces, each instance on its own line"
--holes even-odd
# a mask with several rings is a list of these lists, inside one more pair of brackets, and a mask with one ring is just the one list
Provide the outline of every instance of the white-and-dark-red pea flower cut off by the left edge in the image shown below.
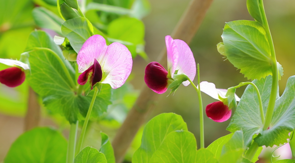
[[8,66],[14,66],[0,71],[0,83],[8,87],[16,87],[25,81],[26,74],[24,70],[29,69],[28,64],[18,60],[2,58],[0,58],[0,63],[6,64]]

